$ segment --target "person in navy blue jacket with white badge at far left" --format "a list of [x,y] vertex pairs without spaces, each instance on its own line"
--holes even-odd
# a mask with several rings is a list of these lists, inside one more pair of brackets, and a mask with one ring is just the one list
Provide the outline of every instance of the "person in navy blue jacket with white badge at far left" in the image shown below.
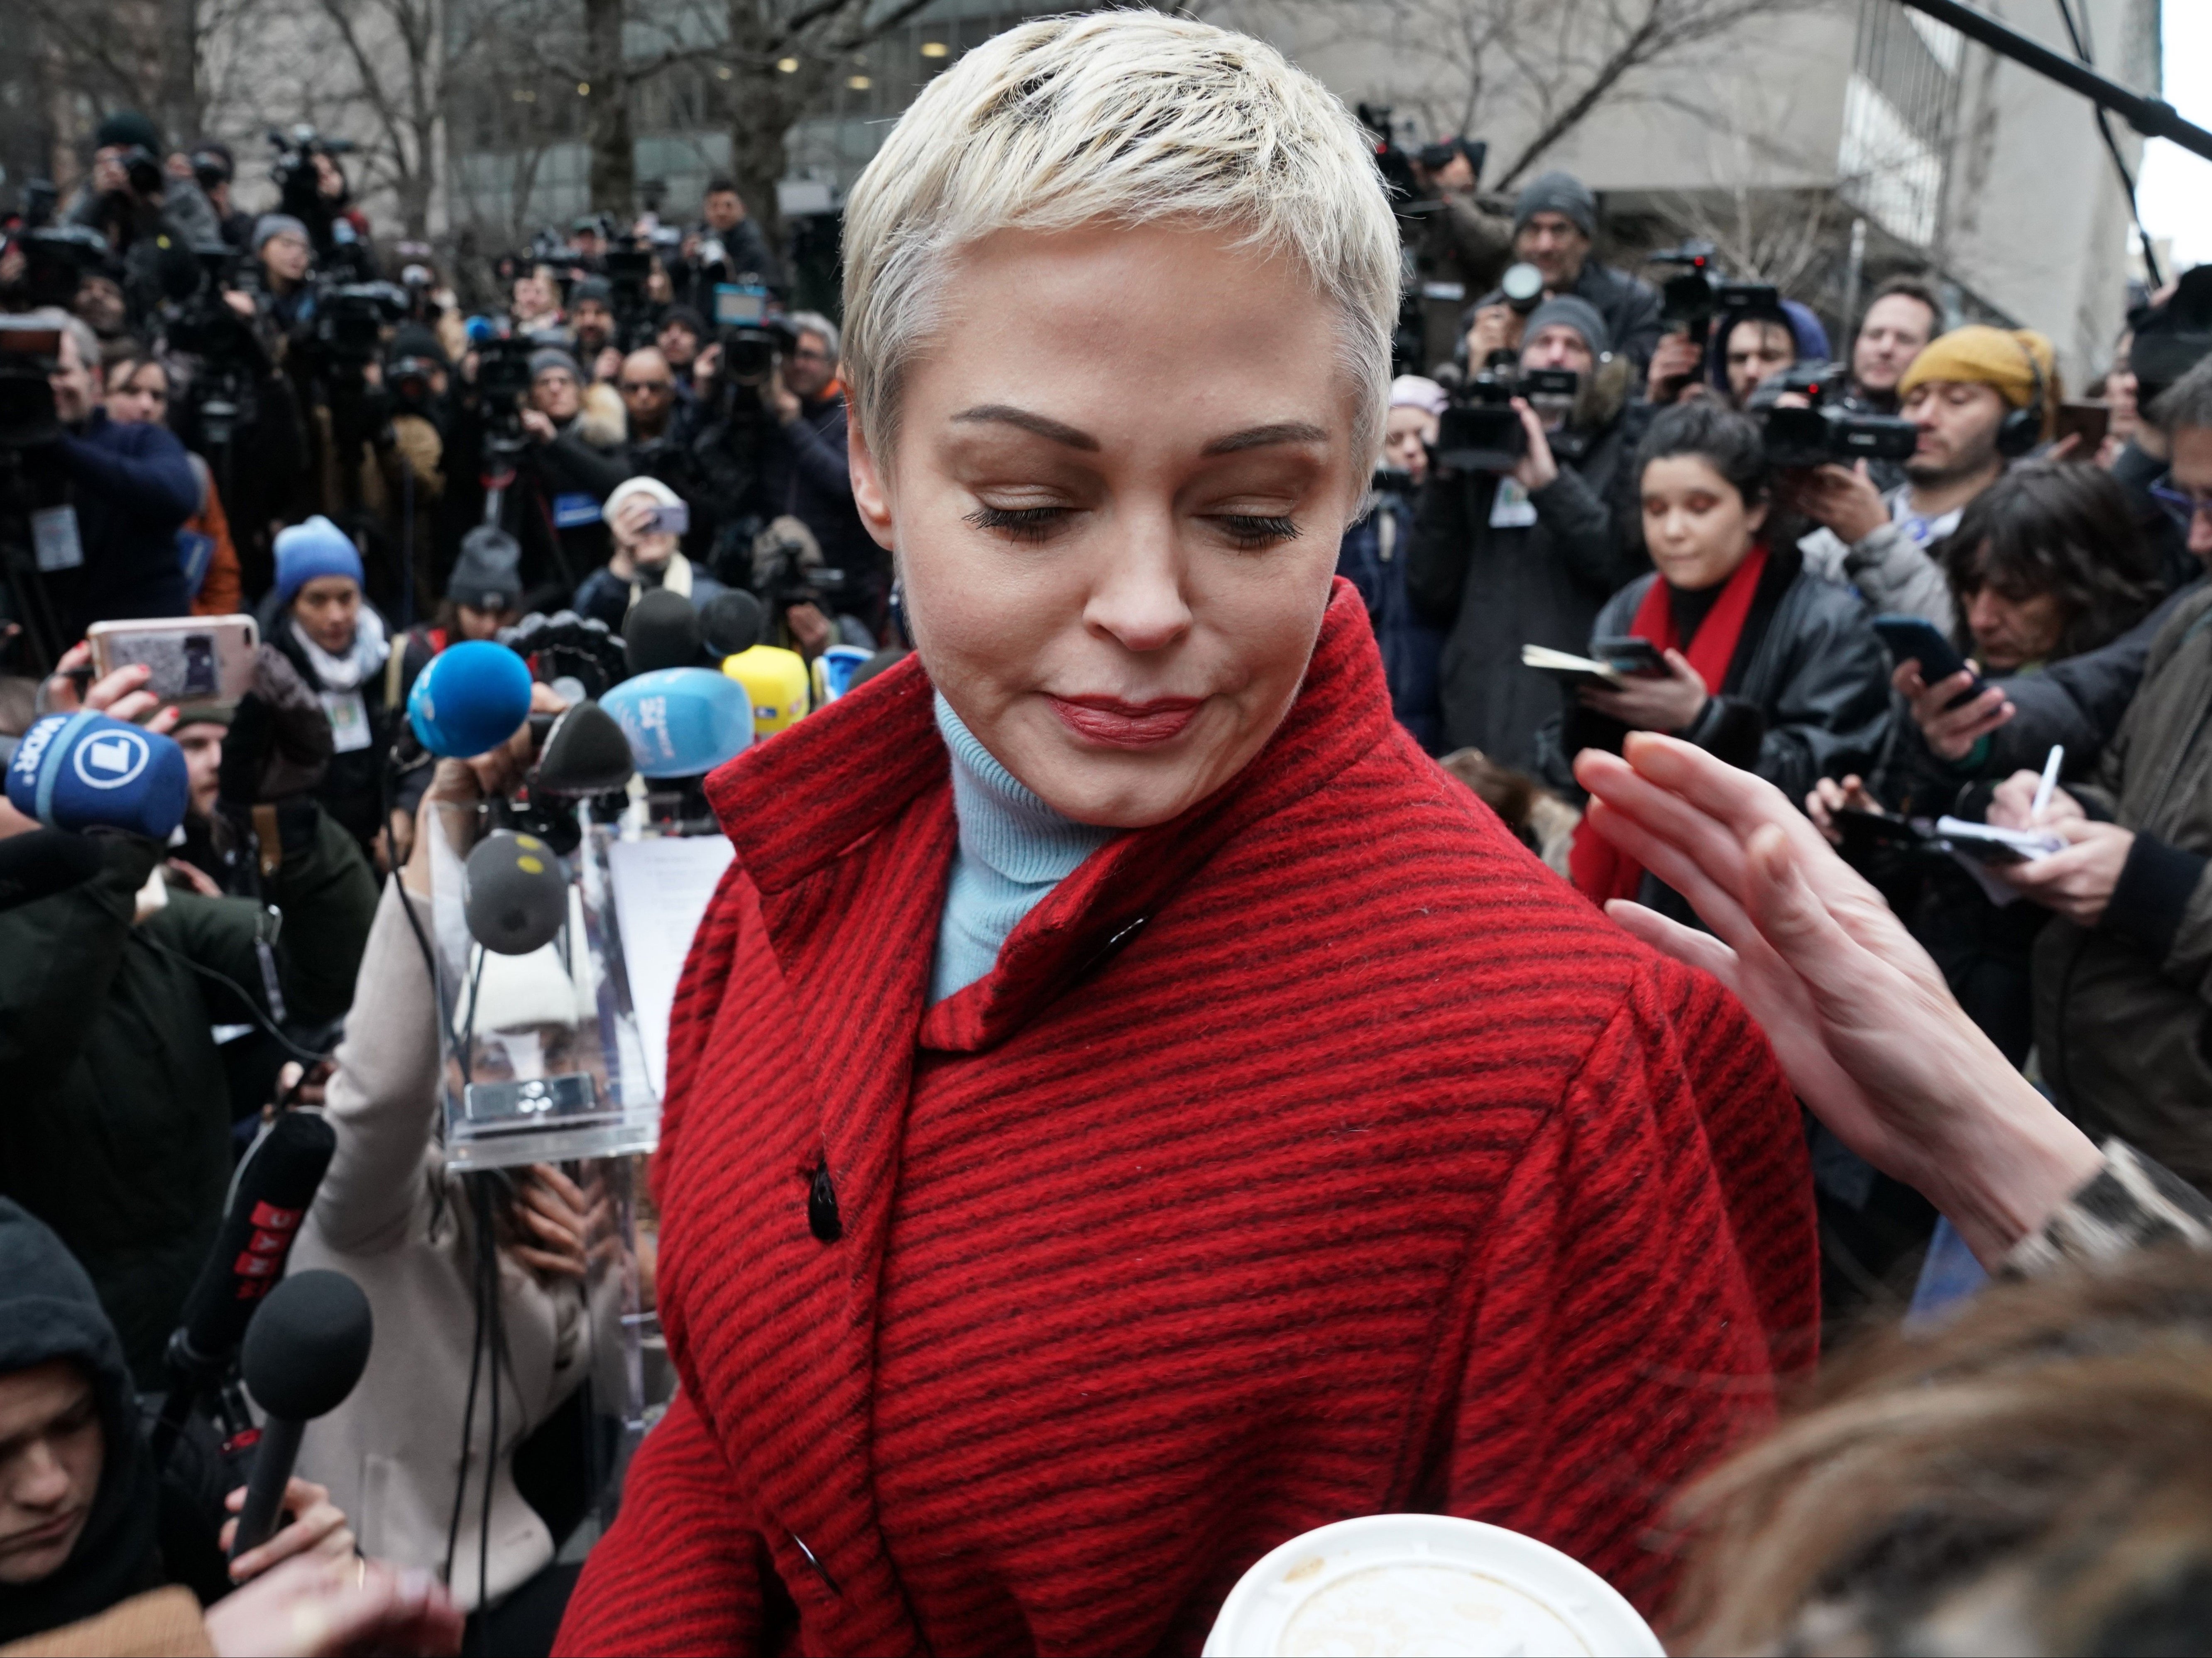
[[[64,480],[64,500],[31,517],[31,546],[53,606],[55,648],[84,637],[95,621],[184,617],[192,590],[177,557],[177,526],[199,511],[199,478],[177,436],[155,422],[117,424],[93,378],[100,340],[66,312],[29,321],[62,334],[53,411],[62,433],[33,451],[31,473],[46,466]],[[51,460],[49,460],[51,458]]]

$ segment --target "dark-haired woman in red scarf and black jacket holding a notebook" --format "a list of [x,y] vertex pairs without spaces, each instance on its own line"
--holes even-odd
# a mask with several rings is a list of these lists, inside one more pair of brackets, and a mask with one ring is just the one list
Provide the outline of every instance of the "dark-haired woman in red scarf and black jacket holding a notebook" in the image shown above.
[[[1792,798],[1856,772],[1889,730],[1889,659],[1847,588],[1805,570],[1778,524],[1759,427],[1708,400],[1666,409],[1637,451],[1644,544],[1659,566],[1606,601],[1593,639],[1659,646],[1666,672],[1584,690],[1555,727],[1555,780],[1588,747],[1668,732],[1756,772]],[[1641,898],[1688,917],[1679,898],[1595,833],[1579,833],[1575,884],[1604,902]]]

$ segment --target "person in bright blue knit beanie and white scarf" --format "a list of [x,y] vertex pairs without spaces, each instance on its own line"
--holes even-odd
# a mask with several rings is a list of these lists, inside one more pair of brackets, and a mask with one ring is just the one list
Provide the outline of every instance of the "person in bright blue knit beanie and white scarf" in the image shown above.
[[261,637],[281,650],[330,716],[330,772],[314,798],[378,869],[383,765],[398,734],[398,688],[383,672],[392,632],[363,592],[361,550],[316,513],[276,533],[276,586]]

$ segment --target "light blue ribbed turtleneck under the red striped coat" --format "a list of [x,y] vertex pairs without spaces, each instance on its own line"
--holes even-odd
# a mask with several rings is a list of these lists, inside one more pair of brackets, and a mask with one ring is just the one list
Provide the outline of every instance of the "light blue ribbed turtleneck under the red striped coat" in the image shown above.
[[929,966],[931,1006],[984,977],[998,946],[1044,895],[1075,873],[1113,829],[1062,818],[991,758],[938,696],[938,734],[953,756],[953,811],[960,851],[938,917],[938,953]]

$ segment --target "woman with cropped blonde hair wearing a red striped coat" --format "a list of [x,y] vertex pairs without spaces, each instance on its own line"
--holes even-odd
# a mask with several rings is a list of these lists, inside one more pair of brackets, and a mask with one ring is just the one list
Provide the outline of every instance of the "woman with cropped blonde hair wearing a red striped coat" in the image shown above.
[[916,654],[714,774],[655,1167],[681,1393],[564,1651],[1197,1651],[1276,1543],[1646,1607],[1812,1360],[1796,1108],[1398,732],[1338,537],[1398,241],[1270,46],[1024,24],[845,219]]

